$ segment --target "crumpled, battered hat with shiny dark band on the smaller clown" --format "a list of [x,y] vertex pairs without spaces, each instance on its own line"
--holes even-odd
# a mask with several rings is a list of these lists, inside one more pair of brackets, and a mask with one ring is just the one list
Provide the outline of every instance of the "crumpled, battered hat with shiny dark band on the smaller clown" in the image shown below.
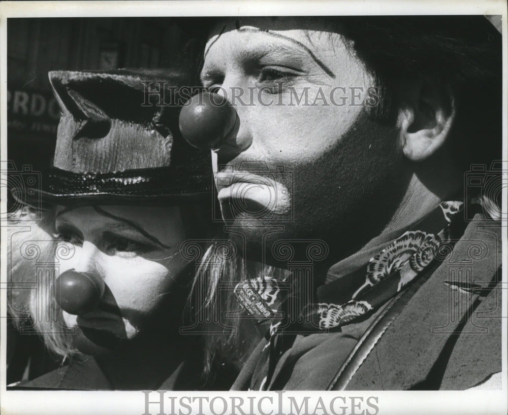
[[[211,195],[209,151],[178,129],[183,70],[49,73],[61,109],[53,166],[34,205],[192,201]],[[31,194],[31,196],[29,196]]]

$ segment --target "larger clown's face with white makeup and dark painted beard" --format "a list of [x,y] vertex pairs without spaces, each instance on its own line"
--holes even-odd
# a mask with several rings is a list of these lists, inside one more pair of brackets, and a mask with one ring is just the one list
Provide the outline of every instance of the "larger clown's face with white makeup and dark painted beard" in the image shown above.
[[365,115],[371,77],[325,23],[225,20],[212,31],[201,75],[238,114],[212,154],[223,216],[250,237],[252,221],[288,216],[284,236],[326,235],[393,174],[395,134]]

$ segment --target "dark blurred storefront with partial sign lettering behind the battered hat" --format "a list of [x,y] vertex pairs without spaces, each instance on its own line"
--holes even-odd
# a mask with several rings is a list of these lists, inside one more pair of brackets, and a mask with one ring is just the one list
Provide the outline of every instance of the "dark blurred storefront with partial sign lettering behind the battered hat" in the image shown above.
[[59,108],[53,70],[169,67],[186,41],[172,18],[10,18],[7,21],[8,158],[48,169]]

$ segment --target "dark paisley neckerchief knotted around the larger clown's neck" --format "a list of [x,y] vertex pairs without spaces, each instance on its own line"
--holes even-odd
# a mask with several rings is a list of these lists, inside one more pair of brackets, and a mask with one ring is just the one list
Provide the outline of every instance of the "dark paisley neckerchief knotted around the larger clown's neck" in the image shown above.
[[278,359],[291,347],[291,338],[294,339],[296,333],[340,330],[345,324],[360,321],[424,271],[435,269],[431,265],[450,255],[465,229],[464,220],[460,219],[462,215],[459,215],[462,207],[460,201],[439,203],[401,236],[388,241],[367,263],[319,287],[318,302],[299,310],[299,323],[292,319],[291,330],[280,313],[286,310],[285,316],[290,314],[288,299],[295,295],[291,282],[263,276],[238,284],[234,291],[236,297],[245,312],[258,320],[258,327],[268,340],[253,372],[251,388],[267,390]]

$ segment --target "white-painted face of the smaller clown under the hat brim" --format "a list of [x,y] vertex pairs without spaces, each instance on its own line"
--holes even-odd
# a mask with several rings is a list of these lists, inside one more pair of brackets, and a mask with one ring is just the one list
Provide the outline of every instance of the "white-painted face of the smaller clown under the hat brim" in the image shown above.
[[[72,258],[60,261],[60,274],[94,272],[106,284],[97,309],[82,316],[63,312],[66,325],[78,331],[133,339],[182,283],[176,281],[186,264],[179,254],[185,238],[179,208],[59,206],[56,231],[75,249]],[[86,334],[76,336],[76,343],[86,351]]]

